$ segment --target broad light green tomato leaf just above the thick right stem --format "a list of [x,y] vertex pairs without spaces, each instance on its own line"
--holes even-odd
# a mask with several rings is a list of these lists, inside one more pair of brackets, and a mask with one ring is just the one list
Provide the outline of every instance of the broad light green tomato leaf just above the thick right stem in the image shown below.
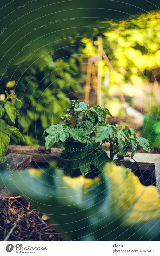
[[107,139],[109,136],[113,136],[113,128],[112,126],[106,127],[104,125],[100,125],[96,128],[97,133],[95,135],[95,142],[103,141]]

